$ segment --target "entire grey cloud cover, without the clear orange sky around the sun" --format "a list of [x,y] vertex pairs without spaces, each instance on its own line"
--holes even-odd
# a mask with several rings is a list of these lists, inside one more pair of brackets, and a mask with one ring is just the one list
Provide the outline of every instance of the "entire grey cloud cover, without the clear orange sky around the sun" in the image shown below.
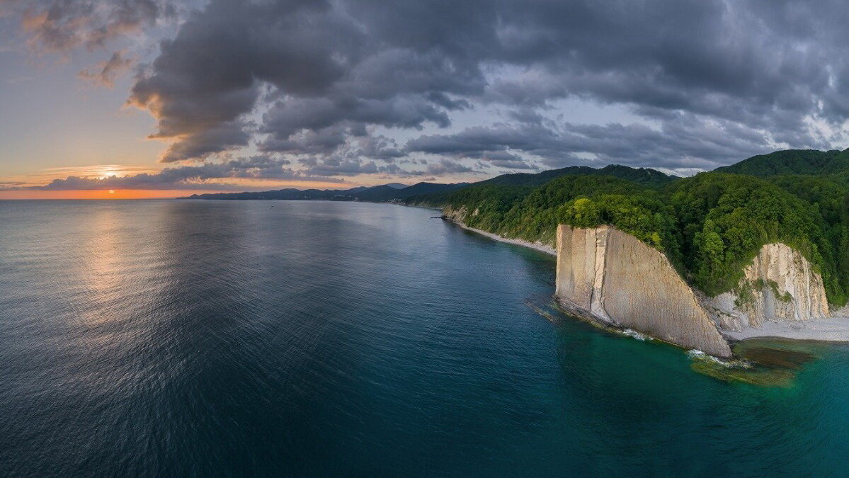
[[[25,25],[54,50],[173,10],[37,5]],[[847,24],[838,0],[211,0],[161,42],[128,102],[155,117],[166,163],[255,149],[311,177],[712,169],[846,147]],[[90,76],[108,84],[126,62]]]

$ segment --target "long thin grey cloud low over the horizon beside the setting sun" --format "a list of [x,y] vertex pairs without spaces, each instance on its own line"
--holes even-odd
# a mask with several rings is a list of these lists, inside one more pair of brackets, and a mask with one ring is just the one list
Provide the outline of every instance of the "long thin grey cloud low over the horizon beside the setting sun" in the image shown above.
[[323,177],[288,167],[288,160],[259,155],[222,163],[205,163],[198,166],[167,167],[160,172],[141,173],[126,177],[76,177],[54,179],[46,186],[28,189],[186,189],[215,188],[211,179],[290,179],[296,181],[322,181],[339,183],[332,177]]

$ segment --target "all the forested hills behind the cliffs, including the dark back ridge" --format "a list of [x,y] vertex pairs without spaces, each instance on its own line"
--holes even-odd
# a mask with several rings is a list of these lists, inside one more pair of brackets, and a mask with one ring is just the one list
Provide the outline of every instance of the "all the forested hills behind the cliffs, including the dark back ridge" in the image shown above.
[[[711,297],[734,291],[740,304],[753,303],[751,294],[768,284],[746,282],[744,267],[763,246],[780,243],[820,274],[830,306],[849,302],[849,149],[775,151],[693,177],[573,167],[477,184],[399,202],[551,246],[559,224],[613,226],[660,250],[695,288]],[[798,288],[781,301],[801,304],[804,294]]]

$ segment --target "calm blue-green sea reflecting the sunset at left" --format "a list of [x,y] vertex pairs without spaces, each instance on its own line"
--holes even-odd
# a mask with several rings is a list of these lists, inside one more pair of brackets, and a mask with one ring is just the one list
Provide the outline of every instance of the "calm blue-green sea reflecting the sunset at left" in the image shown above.
[[0,201],[0,475],[849,474],[846,346],[717,380],[435,215]]

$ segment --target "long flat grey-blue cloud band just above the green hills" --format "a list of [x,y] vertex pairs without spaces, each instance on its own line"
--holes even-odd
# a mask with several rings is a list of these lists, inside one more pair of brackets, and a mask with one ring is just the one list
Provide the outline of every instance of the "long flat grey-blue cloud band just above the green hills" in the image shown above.
[[660,129],[619,123],[565,122],[556,127],[503,123],[470,127],[453,134],[421,136],[410,141],[407,148],[411,152],[456,157],[522,152],[537,156],[553,167],[598,165],[603,160],[632,166],[713,169],[728,158],[755,155],[768,145],[762,135],[751,129],[678,113],[664,121]]

